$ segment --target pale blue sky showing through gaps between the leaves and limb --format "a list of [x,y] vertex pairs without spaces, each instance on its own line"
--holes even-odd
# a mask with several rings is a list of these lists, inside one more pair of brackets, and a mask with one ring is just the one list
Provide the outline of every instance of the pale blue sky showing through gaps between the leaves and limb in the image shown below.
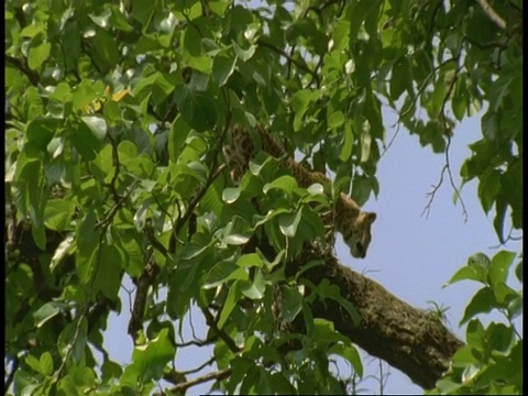
[[[396,129],[391,127],[395,117],[385,109],[384,118],[388,141],[396,133]],[[464,121],[455,130],[450,152],[455,185],[460,184],[460,166],[471,154],[468,144],[479,140],[480,133],[479,117]],[[458,283],[447,288],[442,288],[442,285],[472,254],[483,252],[493,256],[497,252],[498,241],[492,226],[493,211],[486,218],[477,200],[475,182],[462,190],[468,210],[466,222],[460,204],[454,206],[452,202],[453,190],[446,177],[436,194],[429,217],[421,216],[428,202],[427,193],[438,183],[443,165],[443,155],[433,154],[429,147],[421,147],[417,136],[409,135],[402,129],[378,165],[380,196],[377,200],[372,197],[364,206],[365,210],[377,212],[367,257],[356,260],[350,256],[341,239],[338,240],[337,253],[343,265],[366,273],[369,277],[414,307],[432,308],[428,300],[450,307],[447,311],[450,328],[464,340],[464,328],[459,328],[458,323],[479,285],[470,282]],[[505,230],[508,230],[508,226],[505,226]],[[501,249],[519,252],[520,243],[509,242]],[[517,282],[513,282],[513,285],[516,288],[520,287]],[[121,298],[122,314],[119,317],[112,314],[106,345],[112,359],[127,363],[131,360],[132,342],[127,336],[130,310],[125,290],[121,290]],[[503,321],[499,315],[485,316],[484,321],[488,320]],[[191,339],[188,323],[189,318],[184,326],[186,340]],[[520,318],[516,323],[518,331],[522,332]],[[194,312],[193,324],[198,337],[205,338],[207,328],[201,314]],[[193,369],[210,356],[210,348],[189,346],[178,350],[177,367]],[[377,393],[378,361],[364,355],[363,364],[366,366],[367,378],[360,383],[359,388],[364,389],[363,394]],[[340,370],[341,373],[348,372],[345,367]],[[385,374],[389,373],[384,394],[422,393],[420,387],[414,385],[396,369],[383,363],[383,370]],[[207,393],[210,385],[211,383],[206,383],[193,387],[187,394]]]

